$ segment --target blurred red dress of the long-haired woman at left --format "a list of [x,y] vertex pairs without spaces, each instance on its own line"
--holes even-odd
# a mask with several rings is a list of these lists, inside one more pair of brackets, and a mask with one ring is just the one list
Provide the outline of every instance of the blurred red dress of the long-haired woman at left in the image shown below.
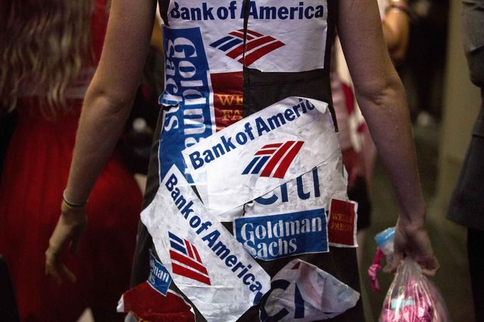
[[[97,1],[104,10],[104,1]],[[106,18],[94,15],[93,47],[100,52]],[[18,102],[0,182],[0,254],[6,257],[22,321],[76,321],[85,308],[116,311],[129,284],[141,210],[141,192],[119,155],[109,160],[87,205],[88,224],[79,252],[67,267],[77,283],[59,287],[45,276],[45,250],[60,215],[62,190],[75,143],[82,100],[54,121],[38,104]]]

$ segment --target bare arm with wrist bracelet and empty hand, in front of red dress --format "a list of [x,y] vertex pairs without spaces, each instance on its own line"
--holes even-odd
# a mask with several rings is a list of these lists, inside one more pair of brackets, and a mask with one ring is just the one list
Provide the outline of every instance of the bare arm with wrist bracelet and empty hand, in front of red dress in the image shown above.
[[[131,111],[141,79],[155,17],[154,0],[113,0],[101,60],[79,119],[65,199],[84,204]],[[62,248],[75,250],[86,224],[83,207],[62,203],[62,214],[50,238],[46,274],[74,280],[62,263]]]

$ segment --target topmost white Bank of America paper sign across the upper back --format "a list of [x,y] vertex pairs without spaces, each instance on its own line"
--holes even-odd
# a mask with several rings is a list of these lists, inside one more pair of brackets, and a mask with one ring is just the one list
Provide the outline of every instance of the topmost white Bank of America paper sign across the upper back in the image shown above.
[[[326,0],[248,2],[244,12],[243,1],[170,1],[165,26],[168,32],[199,29],[211,71],[240,71],[243,62],[263,72],[325,67],[329,10]],[[244,36],[245,14],[248,29]],[[174,44],[189,50],[183,39]],[[187,74],[191,72],[191,65],[182,67]]]

